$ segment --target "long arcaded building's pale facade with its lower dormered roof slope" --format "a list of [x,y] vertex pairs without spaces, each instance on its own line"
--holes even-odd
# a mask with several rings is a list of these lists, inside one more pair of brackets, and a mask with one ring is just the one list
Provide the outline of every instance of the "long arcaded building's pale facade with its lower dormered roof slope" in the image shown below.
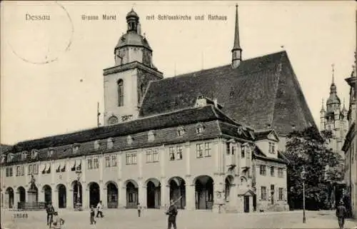
[[[202,112],[210,106],[195,109]],[[276,210],[277,206],[286,210],[286,161],[278,156],[278,148],[269,153],[251,140],[254,132],[233,123],[229,124],[236,129],[233,136],[220,134],[217,124],[218,120],[180,124],[9,153],[1,166],[4,205],[16,208],[16,203],[33,198],[29,192],[32,174],[38,201],[51,201],[55,208],[76,208],[77,202],[89,208],[99,200],[107,208],[136,208],[137,203],[144,208],[164,208],[173,199],[179,208],[188,210],[251,212]],[[259,138],[261,146],[269,143],[278,143],[278,138]],[[259,175],[261,164],[276,168],[274,175],[270,170]],[[281,193],[273,195],[276,202],[256,198],[256,189],[264,185],[274,185],[275,193]]]

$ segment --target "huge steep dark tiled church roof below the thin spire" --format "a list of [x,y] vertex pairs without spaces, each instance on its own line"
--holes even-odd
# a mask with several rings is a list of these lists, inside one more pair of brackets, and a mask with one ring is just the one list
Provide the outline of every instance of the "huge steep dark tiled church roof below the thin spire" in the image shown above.
[[140,116],[192,107],[198,95],[217,98],[222,111],[256,129],[279,135],[316,126],[285,51],[231,65],[152,81]]

